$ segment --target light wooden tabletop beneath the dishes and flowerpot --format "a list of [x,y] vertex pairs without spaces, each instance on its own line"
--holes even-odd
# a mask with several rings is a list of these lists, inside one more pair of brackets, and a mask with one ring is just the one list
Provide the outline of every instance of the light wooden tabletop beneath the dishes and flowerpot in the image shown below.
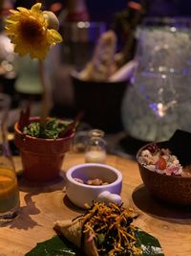
[[[15,158],[17,170],[21,168]],[[83,154],[66,155],[63,172],[84,162]],[[167,207],[152,199],[142,185],[134,160],[108,155],[107,164],[123,175],[122,199],[139,213],[136,225],[159,239],[165,256],[191,256],[191,209]],[[23,256],[36,243],[55,234],[53,221],[72,219],[81,210],[67,199],[64,179],[44,186],[19,178],[21,213],[5,227],[0,227],[0,256]]]

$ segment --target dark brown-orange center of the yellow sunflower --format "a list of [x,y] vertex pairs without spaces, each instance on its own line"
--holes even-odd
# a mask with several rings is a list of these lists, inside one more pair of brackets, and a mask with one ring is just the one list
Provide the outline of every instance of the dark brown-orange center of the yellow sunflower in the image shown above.
[[44,35],[42,24],[29,17],[21,18],[19,30],[22,38],[30,43],[41,41]]

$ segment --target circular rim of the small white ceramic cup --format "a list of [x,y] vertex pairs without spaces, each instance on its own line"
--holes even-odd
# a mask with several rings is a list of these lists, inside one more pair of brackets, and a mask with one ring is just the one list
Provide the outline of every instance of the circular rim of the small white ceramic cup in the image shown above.
[[[72,175],[76,169],[82,168],[82,167],[102,167],[102,168],[108,169],[117,175],[117,179],[110,184],[98,185],[98,186],[93,186],[93,185],[88,185],[88,184],[83,184],[83,183],[77,182],[74,180]],[[87,188],[87,189],[88,188],[94,189],[94,190],[100,189],[100,188],[113,187],[113,186],[117,185],[118,183],[122,182],[122,174],[115,167],[107,165],[107,164],[99,164],[99,163],[83,163],[83,164],[74,165],[66,172],[66,178],[69,182],[73,183],[76,186]]]

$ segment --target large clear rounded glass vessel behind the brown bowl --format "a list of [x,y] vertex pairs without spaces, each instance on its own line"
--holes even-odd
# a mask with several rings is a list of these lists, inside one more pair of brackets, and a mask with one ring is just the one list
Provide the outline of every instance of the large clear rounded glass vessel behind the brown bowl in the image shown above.
[[138,28],[138,68],[121,113],[132,137],[164,141],[177,128],[189,129],[190,121],[182,116],[185,108],[191,112],[190,36],[190,19],[150,18]]

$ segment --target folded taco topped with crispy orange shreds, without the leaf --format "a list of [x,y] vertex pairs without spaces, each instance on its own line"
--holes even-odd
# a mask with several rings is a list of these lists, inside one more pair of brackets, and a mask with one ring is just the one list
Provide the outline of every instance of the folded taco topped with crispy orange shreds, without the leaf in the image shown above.
[[138,215],[122,204],[96,202],[74,221],[56,221],[54,229],[80,247],[87,256],[139,255],[136,227]]

